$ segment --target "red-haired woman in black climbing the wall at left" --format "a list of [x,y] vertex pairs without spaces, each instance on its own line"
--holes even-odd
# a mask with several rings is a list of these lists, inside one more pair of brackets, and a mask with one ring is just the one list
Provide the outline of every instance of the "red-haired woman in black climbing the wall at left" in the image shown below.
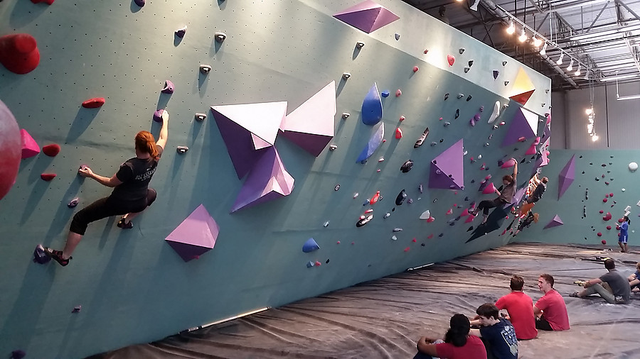
[[136,157],[127,160],[111,178],[95,174],[89,167],[81,166],[78,174],[90,177],[107,187],[114,187],[110,196],[98,199],[73,216],[64,250],[46,248],[45,253],[63,267],[69,264],[71,254],[85,235],[87,225],[93,221],[124,214],[117,226],[132,228],[131,222],[140,212],[156,200],[156,191],[149,189],[149,182],[156,172],[158,161],[169,135],[169,112],[162,114],[160,138],[155,141],[149,131],[140,131],[135,138]]

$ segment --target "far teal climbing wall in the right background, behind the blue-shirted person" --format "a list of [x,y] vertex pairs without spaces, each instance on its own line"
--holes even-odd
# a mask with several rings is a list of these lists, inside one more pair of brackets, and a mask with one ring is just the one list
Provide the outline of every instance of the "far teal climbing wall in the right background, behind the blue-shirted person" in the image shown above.
[[616,225],[631,220],[629,245],[637,245],[640,191],[637,151],[553,150],[541,176],[549,179],[531,209],[540,220],[516,237],[523,242],[599,244],[620,250]]

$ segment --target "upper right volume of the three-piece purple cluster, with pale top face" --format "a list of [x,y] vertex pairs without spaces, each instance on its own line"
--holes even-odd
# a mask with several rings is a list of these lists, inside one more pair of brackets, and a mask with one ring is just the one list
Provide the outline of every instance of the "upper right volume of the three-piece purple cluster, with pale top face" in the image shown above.
[[318,157],[334,138],[336,82],[332,81],[284,118],[284,137]]

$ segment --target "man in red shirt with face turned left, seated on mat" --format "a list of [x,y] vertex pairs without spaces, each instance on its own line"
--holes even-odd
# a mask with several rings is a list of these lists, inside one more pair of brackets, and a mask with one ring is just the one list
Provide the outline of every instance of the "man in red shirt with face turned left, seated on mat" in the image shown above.
[[566,331],[569,329],[569,314],[565,299],[560,293],[553,289],[553,276],[542,274],[538,278],[538,288],[545,292],[542,298],[538,299],[533,306],[533,314],[538,316],[535,319],[535,328],[543,331]]

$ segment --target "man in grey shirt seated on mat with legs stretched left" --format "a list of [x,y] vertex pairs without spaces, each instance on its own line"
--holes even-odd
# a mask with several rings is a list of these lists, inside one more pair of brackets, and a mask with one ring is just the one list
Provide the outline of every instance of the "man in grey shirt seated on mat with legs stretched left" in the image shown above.
[[604,260],[604,267],[609,270],[607,274],[594,278],[585,283],[582,292],[573,292],[570,297],[584,298],[591,294],[598,294],[609,304],[624,304],[629,302],[631,287],[629,281],[616,270],[616,263],[611,258]]

